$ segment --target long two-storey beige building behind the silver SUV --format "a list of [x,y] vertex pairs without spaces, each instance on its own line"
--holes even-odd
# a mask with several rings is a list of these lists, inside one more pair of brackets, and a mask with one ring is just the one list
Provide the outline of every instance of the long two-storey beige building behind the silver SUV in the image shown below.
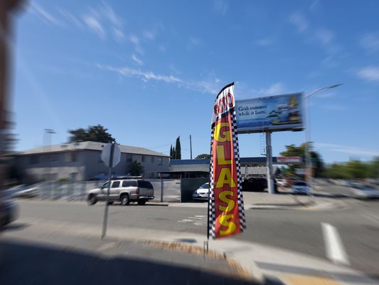
[[[100,158],[104,145],[102,142],[73,142],[37,147],[18,152],[16,165],[23,180],[28,182],[65,178],[72,181],[103,179],[108,173]],[[146,178],[154,178],[157,172],[169,170],[169,155],[144,147],[119,145],[119,148],[121,160],[112,170],[114,175],[127,175],[134,160],[141,162],[144,167],[142,176]]]

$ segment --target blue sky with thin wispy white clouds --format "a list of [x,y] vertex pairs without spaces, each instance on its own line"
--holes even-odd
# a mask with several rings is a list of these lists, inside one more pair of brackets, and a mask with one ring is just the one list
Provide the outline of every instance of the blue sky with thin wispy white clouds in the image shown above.
[[[310,93],[326,162],[379,155],[379,1],[30,1],[14,19],[18,150],[104,125],[123,145],[210,150],[220,88],[235,98]],[[260,155],[260,134],[239,135]],[[273,155],[304,132],[272,135]]]

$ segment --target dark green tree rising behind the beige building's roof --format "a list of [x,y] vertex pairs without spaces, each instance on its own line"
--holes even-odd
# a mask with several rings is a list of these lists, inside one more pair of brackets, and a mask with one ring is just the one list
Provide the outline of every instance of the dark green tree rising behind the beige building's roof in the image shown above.
[[90,125],[87,129],[78,128],[76,130],[68,130],[70,142],[115,142],[112,135],[107,132],[107,128],[102,125]]

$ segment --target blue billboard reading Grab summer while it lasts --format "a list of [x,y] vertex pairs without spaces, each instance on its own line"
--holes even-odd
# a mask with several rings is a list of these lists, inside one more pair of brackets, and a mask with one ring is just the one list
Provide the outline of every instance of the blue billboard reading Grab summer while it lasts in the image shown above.
[[303,93],[235,100],[238,133],[303,130]]

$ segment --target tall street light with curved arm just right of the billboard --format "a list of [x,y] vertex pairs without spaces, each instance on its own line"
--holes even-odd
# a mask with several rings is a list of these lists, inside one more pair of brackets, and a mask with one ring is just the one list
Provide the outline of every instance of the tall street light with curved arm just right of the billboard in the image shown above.
[[338,86],[341,86],[342,84],[343,83],[336,83],[330,86],[321,87],[309,93],[308,95],[305,95],[306,113],[308,114],[307,116],[308,118],[306,118],[306,128],[305,128],[305,163],[306,163],[306,180],[309,185],[309,190],[311,190],[311,179],[312,179],[312,162],[311,162],[311,152],[310,152],[310,147],[309,147],[309,143],[311,143],[311,106],[310,106],[311,99],[310,98],[311,98],[311,95],[314,95],[315,93],[321,90],[336,88]]

